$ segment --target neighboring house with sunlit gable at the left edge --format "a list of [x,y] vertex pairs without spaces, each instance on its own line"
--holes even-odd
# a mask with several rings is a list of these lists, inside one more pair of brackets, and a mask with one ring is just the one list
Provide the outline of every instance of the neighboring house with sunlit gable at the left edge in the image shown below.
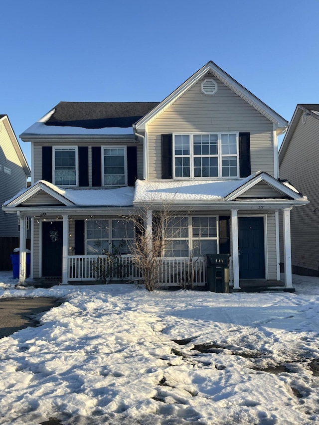
[[[0,205],[26,188],[31,175],[7,115],[0,115]],[[9,270],[10,254],[19,237],[17,216],[0,210],[0,270]],[[5,239],[4,239],[5,238]]]

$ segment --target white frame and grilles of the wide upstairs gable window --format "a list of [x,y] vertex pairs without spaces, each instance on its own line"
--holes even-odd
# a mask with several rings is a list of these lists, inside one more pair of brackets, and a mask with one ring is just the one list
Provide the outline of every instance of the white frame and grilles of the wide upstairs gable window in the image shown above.
[[[218,146],[218,154],[217,155],[207,155],[207,156],[211,156],[211,157],[217,157],[218,158],[218,176],[215,177],[194,177],[194,152],[193,152],[193,145],[194,145],[194,138],[193,136],[195,135],[210,135],[210,134],[215,134],[217,135],[217,146]],[[230,134],[234,134],[236,135],[236,150],[237,153],[231,153],[231,154],[222,154],[222,150],[221,150],[221,135],[230,135]],[[175,136],[184,136],[184,135],[188,135],[189,136],[189,164],[190,164],[190,176],[189,177],[176,177],[175,175]],[[239,178],[239,132],[200,132],[200,133],[173,133],[173,179],[176,180],[233,180],[236,178]],[[188,155],[177,155],[177,157],[187,157]],[[205,155],[196,155],[196,157],[199,156],[205,156]],[[222,158],[224,156],[234,156],[237,159],[237,175],[236,176],[229,176],[229,177],[223,177],[222,176]]]

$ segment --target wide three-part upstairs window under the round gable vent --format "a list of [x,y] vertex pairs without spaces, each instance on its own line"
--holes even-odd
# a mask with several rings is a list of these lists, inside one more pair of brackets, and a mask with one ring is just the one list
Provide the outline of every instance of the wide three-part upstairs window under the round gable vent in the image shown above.
[[239,176],[238,133],[175,134],[174,177]]

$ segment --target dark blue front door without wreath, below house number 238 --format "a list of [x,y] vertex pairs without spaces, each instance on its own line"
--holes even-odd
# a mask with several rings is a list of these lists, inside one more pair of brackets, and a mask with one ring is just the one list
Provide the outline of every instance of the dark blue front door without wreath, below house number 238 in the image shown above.
[[265,279],[264,218],[238,217],[239,279]]

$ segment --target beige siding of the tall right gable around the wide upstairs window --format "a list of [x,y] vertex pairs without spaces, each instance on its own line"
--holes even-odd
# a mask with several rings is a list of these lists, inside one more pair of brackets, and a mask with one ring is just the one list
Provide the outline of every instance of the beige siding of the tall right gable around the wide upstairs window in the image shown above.
[[171,133],[249,132],[251,172],[274,175],[273,123],[215,80],[215,95],[205,96],[198,82],[149,124],[150,180],[161,179],[161,135]]

